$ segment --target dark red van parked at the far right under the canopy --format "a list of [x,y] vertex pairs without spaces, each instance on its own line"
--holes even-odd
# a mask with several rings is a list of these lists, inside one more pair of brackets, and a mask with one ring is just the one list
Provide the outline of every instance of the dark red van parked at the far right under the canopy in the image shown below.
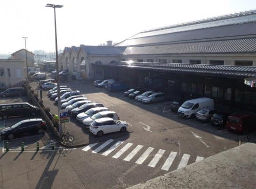
[[234,113],[228,117],[226,127],[241,134],[255,129],[255,118],[250,114]]

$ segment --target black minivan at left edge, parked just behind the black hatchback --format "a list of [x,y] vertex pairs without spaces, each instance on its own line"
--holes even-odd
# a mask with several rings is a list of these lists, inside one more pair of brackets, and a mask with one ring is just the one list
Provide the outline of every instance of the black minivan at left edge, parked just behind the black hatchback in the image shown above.
[[12,116],[36,116],[40,109],[30,103],[0,104],[0,117],[4,120]]

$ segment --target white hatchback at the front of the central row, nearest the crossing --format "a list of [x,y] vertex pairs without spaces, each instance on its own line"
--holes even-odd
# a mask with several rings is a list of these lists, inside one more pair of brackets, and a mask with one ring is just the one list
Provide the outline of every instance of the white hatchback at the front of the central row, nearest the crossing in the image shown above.
[[101,118],[92,121],[90,125],[90,131],[93,135],[101,137],[106,133],[113,132],[126,132],[128,128],[128,123],[121,120],[113,120],[112,118]]

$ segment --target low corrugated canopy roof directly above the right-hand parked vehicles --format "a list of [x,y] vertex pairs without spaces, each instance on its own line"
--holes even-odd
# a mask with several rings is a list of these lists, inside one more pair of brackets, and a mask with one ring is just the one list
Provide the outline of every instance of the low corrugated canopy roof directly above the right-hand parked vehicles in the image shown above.
[[207,64],[176,64],[176,63],[149,63],[149,62],[116,62],[115,64],[94,64],[94,66],[119,67],[169,72],[190,72],[225,77],[256,77],[256,67],[251,66],[222,66]]

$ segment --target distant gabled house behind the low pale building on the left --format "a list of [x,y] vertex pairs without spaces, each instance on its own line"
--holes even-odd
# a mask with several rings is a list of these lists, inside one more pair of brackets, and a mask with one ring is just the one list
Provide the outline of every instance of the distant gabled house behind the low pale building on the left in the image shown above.
[[[34,53],[27,51],[27,67],[28,68],[34,68],[35,67],[34,56],[35,56]],[[11,54],[11,57],[9,57],[9,59],[26,60],[26,50],[25,49],[20,49],[20,50],[18,50],[16,52],[13,52]]]

